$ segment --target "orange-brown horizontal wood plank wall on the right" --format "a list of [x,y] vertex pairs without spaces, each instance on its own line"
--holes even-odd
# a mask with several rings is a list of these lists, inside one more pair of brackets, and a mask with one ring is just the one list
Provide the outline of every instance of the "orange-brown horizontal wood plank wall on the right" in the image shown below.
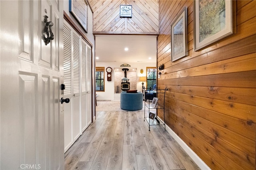
[[[210,168],[252,170],[256,150],[256,1],[233,2],[236,34],[194,51],[193,1],[159,1],[158,66],[164,64],[164,70],[157,84],[169,90],[166,124]],[[171,62],[170,28],[185,6],[188,56]]]

